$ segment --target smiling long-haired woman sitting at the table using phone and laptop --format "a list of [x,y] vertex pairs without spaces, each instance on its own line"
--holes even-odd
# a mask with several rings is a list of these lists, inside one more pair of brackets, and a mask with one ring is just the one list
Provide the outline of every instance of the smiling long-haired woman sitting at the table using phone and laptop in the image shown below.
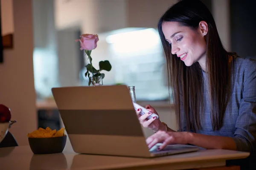
[[[207,149],[256,151],[256,61],[228,53],[215,21],[199,0],[181,0],[160,18],[158,30],[168,65],[178,132],[160,119],[140,116],[162,142]],[[241,42],[242,43],[242,42]],[[157,113],[147,105],[148,114]]]

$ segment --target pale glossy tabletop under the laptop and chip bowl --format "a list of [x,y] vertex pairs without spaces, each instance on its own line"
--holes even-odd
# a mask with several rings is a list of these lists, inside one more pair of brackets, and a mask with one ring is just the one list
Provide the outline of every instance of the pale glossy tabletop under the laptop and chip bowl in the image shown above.
[[[232,150],[199,150],[158,158],[133,158],[77,154],[70,143],[63,153],[35,155],[29,146],[0,148],[1,170],[103,170],[157,169],[175,170],[203,167],[225,167],[226,160],[243,159],[249,153]],[[204,169],[204,168],[203,168]],[[228,169],[228,168],[227,168]],[[200,169],[201,170],[201,169]],[[226,168],[225,168],[226,170]],[[231,170],[231,169],[228,169]]]

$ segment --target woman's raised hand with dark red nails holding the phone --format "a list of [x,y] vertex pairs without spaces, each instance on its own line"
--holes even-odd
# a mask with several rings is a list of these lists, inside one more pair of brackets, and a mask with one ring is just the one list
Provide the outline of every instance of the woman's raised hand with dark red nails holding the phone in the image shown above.
[[148,113],[145,113],[144,115],[140,115],[141,108],[139,108],[136,111],[140,124],[143,125],[143,127],[147,127],[148,129],[153,130],[154,132],[157,132],[160,129],[164,129],[165,126],[163,125],[159,118],[156,119],[156,117],[153,117],[151,119],[147,119],[147,117],[152,113],[158,115],[157,111],[153,107],[151,107],[151,105],[146,105],[145,108],[148,110]]

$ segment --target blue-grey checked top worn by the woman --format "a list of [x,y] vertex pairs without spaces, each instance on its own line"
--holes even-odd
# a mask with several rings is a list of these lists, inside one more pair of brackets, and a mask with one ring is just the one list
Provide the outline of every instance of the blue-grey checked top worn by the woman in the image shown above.
[[[232,137],[237,150],[256,153],[256,60],[235,57],[234,88],[220,130],[212,130],[209,93],[204,83],[205,115],[197,133]],[[204,80],[207,73],[203,72]],[[207,82],[207,81],[204,81]],[[184,124],[186,122],[184,121]],[[186,127],[184,128],[186,130]]]

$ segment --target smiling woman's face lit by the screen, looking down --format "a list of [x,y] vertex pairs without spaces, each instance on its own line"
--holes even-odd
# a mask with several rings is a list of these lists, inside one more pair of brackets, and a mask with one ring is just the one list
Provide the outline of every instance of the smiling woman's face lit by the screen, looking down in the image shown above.
[[166,41],[172,45],[172,54],[177,54],[186,66],[199,62],[205,70],[207,23],[199,23],[197,30],[180,26],[178,22],[163,22],[162,31]]

